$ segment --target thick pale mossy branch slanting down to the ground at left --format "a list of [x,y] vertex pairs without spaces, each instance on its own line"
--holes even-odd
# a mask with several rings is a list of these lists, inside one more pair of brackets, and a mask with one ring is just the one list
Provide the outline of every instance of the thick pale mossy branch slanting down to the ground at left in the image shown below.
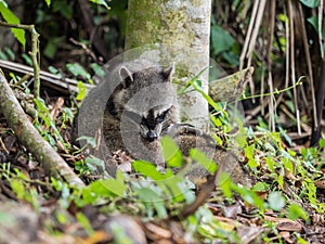
[[76,188],[84,187],[80,178],[35,129],[1,72],[0,91],[0,113],[4,115],[23,145],[42,164],[46,174]]

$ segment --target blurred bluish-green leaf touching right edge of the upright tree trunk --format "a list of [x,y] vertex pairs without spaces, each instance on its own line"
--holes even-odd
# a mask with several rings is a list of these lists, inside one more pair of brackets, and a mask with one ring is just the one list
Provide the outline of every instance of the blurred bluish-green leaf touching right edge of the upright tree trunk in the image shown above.
[[214,55],[230,50],[234,42],[234,38],[220,26],[214,25],[211,27],[211,46]]

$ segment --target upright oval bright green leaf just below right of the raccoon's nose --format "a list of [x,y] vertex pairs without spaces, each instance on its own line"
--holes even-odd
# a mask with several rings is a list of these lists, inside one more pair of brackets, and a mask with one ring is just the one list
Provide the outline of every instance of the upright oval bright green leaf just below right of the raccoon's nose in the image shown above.
[[183,163],[183,155],[180,151],[179,146],[174,143],[174,141],[165,136],[161,139],[161,147],[165,160],[169,167],[180,167]]

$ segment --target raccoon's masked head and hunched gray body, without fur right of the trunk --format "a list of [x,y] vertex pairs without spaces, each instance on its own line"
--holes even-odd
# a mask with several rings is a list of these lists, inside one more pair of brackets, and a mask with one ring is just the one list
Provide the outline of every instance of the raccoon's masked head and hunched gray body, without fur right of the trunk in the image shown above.
[[101,158],[122,150],[164,166],[159,139],[179,120],[172,74],[173,66],[141,60],[113,68],[84,99],[75,123],[78,134],[101,139]]

